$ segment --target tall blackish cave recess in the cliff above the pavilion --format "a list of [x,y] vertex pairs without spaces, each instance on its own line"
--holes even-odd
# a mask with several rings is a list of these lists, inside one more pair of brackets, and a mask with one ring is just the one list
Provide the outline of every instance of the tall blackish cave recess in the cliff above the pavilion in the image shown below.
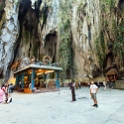
[[[38,22],[39,22],[39,7],[42,0],[35,2],[35,7],[32,9],[31,0],[21,0],[19,6],[19,22],[20,22],[20,34],[18,38],[18,45],[20,44],[30,45],[28,54],[23,53],[28,57],[35,56],[40,58],[40,39],[38,34]],[[24,46],[24,45],[23,45]],[[25,51],[26,52],[26,51]]]

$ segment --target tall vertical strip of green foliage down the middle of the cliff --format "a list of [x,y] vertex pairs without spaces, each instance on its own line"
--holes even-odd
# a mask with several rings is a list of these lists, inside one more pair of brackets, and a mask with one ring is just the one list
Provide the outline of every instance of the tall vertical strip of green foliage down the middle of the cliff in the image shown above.
[[[61,73],[62,78],[71,77],[71,73],[74,71],[73,65],[73,49],[72,49],[72,35],[71,35],[71,19],[72,19],[72,3],[71,0],[66,2],[60,2],[60,23],[59,23],[59,50],[58,56],[61,62],[63,71]],[[67,74],[67,72],[69,72]]]

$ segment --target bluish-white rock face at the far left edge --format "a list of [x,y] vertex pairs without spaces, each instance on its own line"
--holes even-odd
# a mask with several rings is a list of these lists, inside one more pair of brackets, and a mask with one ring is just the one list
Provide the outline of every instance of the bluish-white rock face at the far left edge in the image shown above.
[[18,1],[16,4],[12,0],[5,2],[5,21],[0,36],[0,74],[3,73],[3,76],[7,76],[8,67],[14,59],[15,43],[19,36],[18,5]]

